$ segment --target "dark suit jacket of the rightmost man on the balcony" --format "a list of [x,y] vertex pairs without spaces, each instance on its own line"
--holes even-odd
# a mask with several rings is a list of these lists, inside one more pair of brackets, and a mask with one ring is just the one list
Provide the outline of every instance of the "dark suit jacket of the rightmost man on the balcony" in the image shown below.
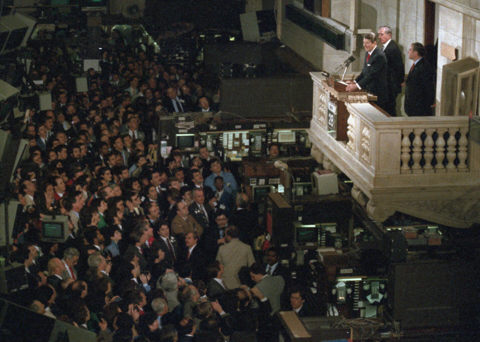
[[432,67],[425,58],[420,59],[408,73],[405,88],[405,112],[408,116],[430,116],[435,103]]

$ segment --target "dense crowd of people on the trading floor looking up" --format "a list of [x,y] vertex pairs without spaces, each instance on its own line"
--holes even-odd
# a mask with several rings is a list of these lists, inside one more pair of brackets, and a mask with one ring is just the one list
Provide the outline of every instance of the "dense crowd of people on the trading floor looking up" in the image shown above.
[[[30,147],[10,255],[24,265],[22,305],[98,341],[271,341],[277,311],[308,315],[279,251],[254,253],[264,229],[228,164],[206,147],[189,160],[156,149],[164,110],[215,110],[190,69],[105,52],[76,93],[59,50],[33,50],[52,109],[19,123]],[[59,215],[67,240],[43,242],[42,220]]]

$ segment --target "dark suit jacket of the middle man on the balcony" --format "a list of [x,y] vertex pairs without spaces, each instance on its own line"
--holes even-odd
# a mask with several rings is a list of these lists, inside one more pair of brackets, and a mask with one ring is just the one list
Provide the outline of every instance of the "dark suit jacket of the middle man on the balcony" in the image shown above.
[[395,115],[395,101],[397,95],[402,92],[402,83],[405,78],[405,66],[402,60],[402,52],[397,44],[391,40],[384,48],[384,54],[387,60],[388,72],[388,98],[393,113],[388,111],[388,114]]

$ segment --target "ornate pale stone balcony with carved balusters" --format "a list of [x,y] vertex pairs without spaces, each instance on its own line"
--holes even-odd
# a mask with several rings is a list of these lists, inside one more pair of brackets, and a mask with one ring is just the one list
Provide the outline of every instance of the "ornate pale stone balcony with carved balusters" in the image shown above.
[[400,211],[457,228],[480,223],[480,146],[468,140],[468,116],[387,117],[346,103],[348,140],[338,141],[327,131],[328,87],[311,75],[312,156],[353,181],[374,220]]

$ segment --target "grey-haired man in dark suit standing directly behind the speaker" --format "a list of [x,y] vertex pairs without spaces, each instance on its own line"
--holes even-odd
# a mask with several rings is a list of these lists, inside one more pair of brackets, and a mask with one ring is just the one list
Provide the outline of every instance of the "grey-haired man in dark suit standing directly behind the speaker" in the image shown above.
[[402,91],[402,83],[405,78],[405,66],[402,60],[402,52],[395,41],[392,40],[392,29],[388,26],[382,26],[378,30],[378,39],[382,43],[387,60],[388,73],[388,110],[387,113],[397,116],[395,107],[397,105],[397,96]]

